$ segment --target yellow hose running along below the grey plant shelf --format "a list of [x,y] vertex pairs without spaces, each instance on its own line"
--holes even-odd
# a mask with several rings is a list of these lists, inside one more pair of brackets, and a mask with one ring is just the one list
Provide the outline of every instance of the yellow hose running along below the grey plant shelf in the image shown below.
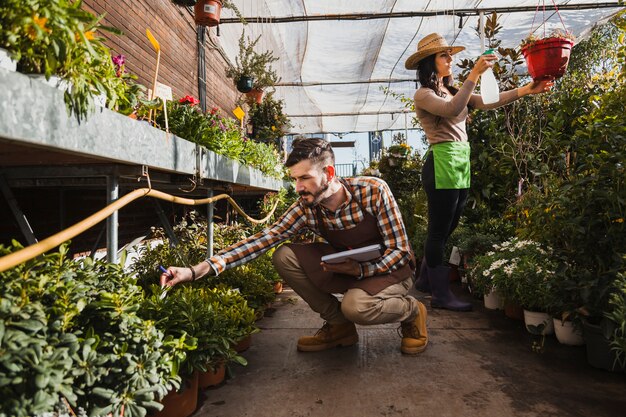
[[17,252],[13,252],[9,255],[3,256],[2,258],[0,258],[0,272],[4,272],[7,269],[13,268],[16,265],[28,261],[29,259],[33,259],[36,256],[39,256],[42,253],[49,251],[50,249],[56,248],[61,243],[81,234],[90,227],[93,227],[96,224],[100,223],[102,220],[109,217],[114,211],[119,210],[120,208],[141,197],[154,197],[161,200],[170,201],[172,203],[184,204],[187,206],[210,204],[219,200],[226,199],[235,208],[235,210],[237,210],[241,215],[246,218],[246,220],[255,224],[265,223],[266,221],[268,221],[274,213],[274,210],[276,210],[276,206],[278,206],[278,200],[276,200],[276,202],[274,203],[274,207],[272,207],[272,211],[264,218],[256,220],[244,213],[243,209],[239,207],[235,200],[233,200],[232,197],[227,194],[220,194],[215,197],[194,200],[191,198],[176,197],[161,191],[152,190],[150,188],[140,188],[124,195],[123,197],[120,197],[102,210],[68,227],[67,229],[60,231],[59,233],[42,240],[41,242],[35,243],[34,245],[28,246],[24,249],[20,249]]

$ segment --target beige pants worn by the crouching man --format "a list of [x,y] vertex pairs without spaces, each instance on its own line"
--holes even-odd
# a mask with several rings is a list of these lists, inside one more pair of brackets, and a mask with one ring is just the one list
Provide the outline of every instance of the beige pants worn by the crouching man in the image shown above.
[[352,288],[337,297],[320,290],[306,276],[294,252],[283,245],[274,252],[274,266],[291,288],[313,311],[331,324],[351,321],[356,324],[383,324],[413,319],[418,312],[417,300],[407,295],[413,280],[408,278],[390,285],[376,295]]

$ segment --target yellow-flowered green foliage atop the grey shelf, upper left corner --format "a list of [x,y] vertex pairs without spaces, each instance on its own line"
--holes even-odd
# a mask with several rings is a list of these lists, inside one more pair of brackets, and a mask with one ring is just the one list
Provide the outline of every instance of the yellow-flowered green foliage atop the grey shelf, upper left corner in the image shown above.
[[81,5],[69,0],[6,0],[0,8],[0,47],[18,60],[18,71],[68,81],[65,103],[79,121],[93,111],[95,95],[105,94],[115,104],[110,52],[97,32],[120,33],[101,26],[102,17]]

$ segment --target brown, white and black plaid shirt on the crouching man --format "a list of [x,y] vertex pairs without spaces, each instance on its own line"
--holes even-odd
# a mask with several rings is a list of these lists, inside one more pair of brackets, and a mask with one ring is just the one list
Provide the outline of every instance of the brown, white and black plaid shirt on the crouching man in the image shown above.
[[[407,264],[410,260],[409,240],[400,210],[387,183],[375,177],[346,178],[345,181],[358,201],[354,201],[352,194],[348,192],[348,200],[336,211],[320,206],[322,220],[328,230],[356,226],[363,220],[361,207],[365,207],[377,219],[386,250],[379,260],[361,262],[363,276],[387,274]],[[273,225],[221,250],[207,259],[207,262],[219,274],[226,269],[245,264],[305,231],[321,235],[314,210],[298,200]]]

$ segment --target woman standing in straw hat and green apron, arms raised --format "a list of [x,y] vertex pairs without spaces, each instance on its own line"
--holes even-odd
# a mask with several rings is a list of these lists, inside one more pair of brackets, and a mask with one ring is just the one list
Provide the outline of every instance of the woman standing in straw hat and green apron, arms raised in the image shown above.
[[470,145],[465,122],[468,106],[495,109],[528,94],[548,91],[552,80],[533,81],[500,93],[496,103],[484,104],[473,94],[478,77],[491,68],[497,57],[481,55],[459,89],[452,82],[452,56],[465,49],[449,46],[438,33],[431,33],[417,44],[417,52],[405,67],[416,69],[420,88],[415,92],[415,112],[430,144],[422,169],[422,182],[428,198],[428,237],[424,260],[415,286],[431,292],[431,307],[469,311],[471,303],[457,299],[450,291],[449,268],[443,252],[448,237],[459,223],[470,186]]

